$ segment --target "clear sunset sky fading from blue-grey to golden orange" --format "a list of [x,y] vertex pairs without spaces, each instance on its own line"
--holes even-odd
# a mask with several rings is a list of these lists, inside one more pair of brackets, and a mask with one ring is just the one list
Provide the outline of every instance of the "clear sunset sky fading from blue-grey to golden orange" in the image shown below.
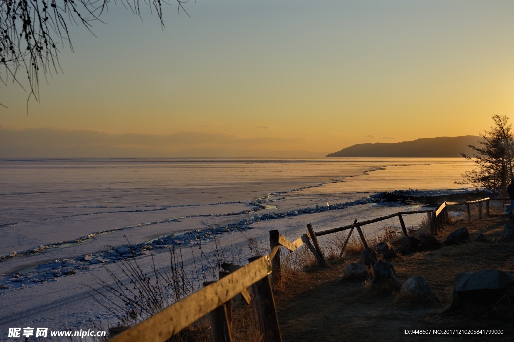
[[0,147],[322,156],[514,113],[510,0],[171,3],[163,29],[121,5],[96,36],[72,26],[28,115],[28,93],[1,86]]

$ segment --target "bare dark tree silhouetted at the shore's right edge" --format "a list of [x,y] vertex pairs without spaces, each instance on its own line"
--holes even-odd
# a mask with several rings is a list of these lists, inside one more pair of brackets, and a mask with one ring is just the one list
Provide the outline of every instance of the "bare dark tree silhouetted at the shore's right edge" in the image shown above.
[[514,163],[514,133],[507,115],[492,116],[494,125],[490,130],[481,133],[482,146],[469,147],[473,155],[461,153],[466,159],[477,164],[477,168],[462,174],[462,182],[457,184],[473,184],[484,187],[496,194],[507,196],[507,185],[514,178],[512,164]]

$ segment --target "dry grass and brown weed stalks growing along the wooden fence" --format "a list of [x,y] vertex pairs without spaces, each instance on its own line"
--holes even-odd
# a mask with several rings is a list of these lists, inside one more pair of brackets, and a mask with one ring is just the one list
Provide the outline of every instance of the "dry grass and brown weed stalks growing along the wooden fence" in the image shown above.
[[[419,227],[409,227],[409,232],[428,230],[426,220]],[[341,249],[346,242],[348,237],[347,230],[345,232],[336,233],[330,236],[330,239],[320,239],[322,249],[325,257],[328,260],[338,259],[341,253]],[[262,256],[269,253],[268,244],[259,241],[251,235],[245,235],[248,240],[248,248],[251,255]],[[383,226],[382,229],[377,232],[374,236],[368,236],[369,246],[375,246],[380,242],[394,243],[402,236],[401,230],[394,226]],[[191,248],[193,248],[191,246]],[[201,245],[198,244],[200,251],[199,258],[200,262],[198,265],[199,269],[205,269],[207,265],[211,269],[212,276],[217,278],[217,270],[220,269],[221,264],[225,261],[225,254],[221,246],[216,247],[216,253],[214,253],[214,259],[209,260],[205,257],[205,254],[201,250]],[[360,240],[360,236],[356,230],[353,231],[352,236],[348,240],[345,250],[344,257],[355,257],[364,249],[364,246]],[[198,254],[198,253],[197,253]],[[318,263],[314,255],[310,252],[306,246],[298,248],[295,252],[289,253],[289,251],[281,248],[281,272],[282,279],[278,283],[274,284],[274,292],[280,295],[286,295],[288,291],[289,279],[296,278],[300,273],[306,269],[317,268]],[[198,257],[198,255],[197,255]],[[116,294],[122,298],[124,307],[118,307],[120,309],[116,312],[120,320],[121,326],[132,326],[137,324],[139,321],[148,317],[163,308],[173,304],[175,301],[180,300],[195,292],[194,285],[190,282],[189,277],[185,274],[183,267],[183,260],[180,255],[180,249],[177,251],[171,251],[171,264],[170,272],[159,273],[155,266],[153,266],[153,272],[155,275],[154,283],[150,284],[145,274],[142,274],[141,268],[137,265],[135,259],[126,259],[118,267],[122,269],[122,272],[126,274],[131,280],[127,285],[122,285],[120,289],[111,287],[101,282],[101,285],[107,292]],[[195,260],[197,263],[198,260]],[[203,274],[199,274],[195,267],[196,278],[205,277]],[[120,279],[116,277],[114,272],[111,276],[120,283]],[[134,292],[129,288],[134,287],[136,290],[136,296]],[[98,293],[101,295],[101,293]],[[156,295],[157,294],[157,295]],[[105,297],[105,296],[104,296]],[[233,320],[231,326],[232,337],[234,340],[244,341],[259,341],[260,332],[256,326],[254,319],[253,308],[251,305],[247,305],[246,301],[236,296],[233,299]],[[121,313],[120,313],[121,311]],[[210,339],[210,324],[206,317],[198,320],[193,325],[182,330],[179,334],[173,336],[170,340],[172,341],[197,341],[197,340],[209,340]]]

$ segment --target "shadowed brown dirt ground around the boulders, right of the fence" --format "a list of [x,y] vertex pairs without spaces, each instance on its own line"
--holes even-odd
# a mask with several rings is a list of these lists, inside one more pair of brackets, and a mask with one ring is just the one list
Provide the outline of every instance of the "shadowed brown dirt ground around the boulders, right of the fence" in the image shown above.
[[[331,268],[310,269],[286,281],[276,294],[283,341],[484,341],[514,340],[514,306],[450,311],[454,275],[484,269],[514,272],[514,242],[501,240],[504,216],[464,220],[439,233],[467,227],[471,241],[439,250],[397,257],[392,264],[401,284],[424,276],[440,305],[421,304],[371,291],[365,283],[342,281],[344,267],[355,260],[332,261]],[[474,242],[480,233],[487,243]],[[494,239],[494,242],[493,242]],[[503,335],[434,334],[433,330],[503,329]],[[403,330],[430,330],[405,334]]]

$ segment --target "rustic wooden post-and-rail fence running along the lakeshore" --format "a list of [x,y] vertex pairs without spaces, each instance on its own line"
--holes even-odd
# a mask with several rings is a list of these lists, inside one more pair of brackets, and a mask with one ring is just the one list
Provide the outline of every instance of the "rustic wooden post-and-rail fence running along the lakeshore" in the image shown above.
[[403,216],[426,214],[430,232],[436,235],[438,231],[444,229],[444,226],[449,223],[448,206],[466,205],[468,218],[471,218],[470,206],[478,205],[479,219],[482,219],[483,203],[485,202],[486,204],[486,215],[489,216],[490,201],[492,200],[506,201],[508,198],[484,198],[471,202],[445,202],[437,210],[397,212],[359,223],[355,220],[351,225],[319,232],[314,232],[313,227],[308,224],[307,232],[293,242],[290,242],[281,235],[278,230],[272,230],[269,232],[271,250],[269,254],[251,258],[247,266],[232,268],[230,273],[221,272],[218,281],[204,284],[203,289],[114,336],[110,341],[135,342],[144,340],[163,342],[206,315],[209,316],[212,339],[214,341],[231,341],[231,300],[240,293],[249,304],[252,303],[253,305],[255,318],[262,333],[262,340],[280,341],[280,329],[272,293],[272,284],[281,278],[280,246],[285,247],[289,252],[293,252],[300,246],[306,245],[316,257],[318,264],[322,267],[327,267],[328,264],[318,244],[318,236],[349,229],[350,233],[348,233],[348,237],[341,250],[341,256],[354,229],[359,233],[364,247],[368,248],[368,243],[362,232],[363,226],[397,216],[402,233],[407,236]]

